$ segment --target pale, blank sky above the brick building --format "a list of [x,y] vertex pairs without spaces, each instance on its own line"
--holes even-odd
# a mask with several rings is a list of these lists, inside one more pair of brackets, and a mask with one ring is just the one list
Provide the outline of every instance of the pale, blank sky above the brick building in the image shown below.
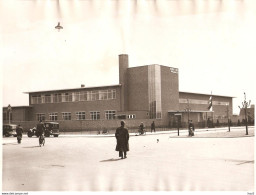
[[[179,69],[179,90],[255,104],[254,0],[2,0],[2,105],[24,92],[118,84],[129,66]],[[57,23],[63,26],[58,31]]]

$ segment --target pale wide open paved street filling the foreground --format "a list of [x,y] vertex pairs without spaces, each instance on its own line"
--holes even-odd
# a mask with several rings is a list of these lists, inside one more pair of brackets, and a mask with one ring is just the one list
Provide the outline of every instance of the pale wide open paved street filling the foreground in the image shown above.
[[[159,142],[157,143],[157,139]],[[254,191],[254,127],[130,137],[3,138],[3,191]]]

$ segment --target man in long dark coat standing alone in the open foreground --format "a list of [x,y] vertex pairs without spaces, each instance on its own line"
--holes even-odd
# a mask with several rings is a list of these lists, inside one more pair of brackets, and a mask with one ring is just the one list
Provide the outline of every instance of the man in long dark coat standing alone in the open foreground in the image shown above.
[[129,133],[128,130],[124,127],[125,122],[121,121],[121,127],[116,129],[116,151],[119,151],[119,157],[127,158],[126,152],[129,151]]

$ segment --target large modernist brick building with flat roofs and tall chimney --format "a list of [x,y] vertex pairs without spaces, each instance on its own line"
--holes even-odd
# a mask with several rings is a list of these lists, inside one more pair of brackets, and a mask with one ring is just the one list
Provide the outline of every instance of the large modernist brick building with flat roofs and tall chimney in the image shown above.
[[[119,84],[99,87],[26,92],[29,106],[3,109],[4,122],[34,125],[38,120],[58,121],[63,129],[115,128],[120,119],[130,127],[171,127],[181,116],[203,126],[208,118],[232,115],[232,97],[179,91],[177,68],[157,64],[129,68],[128,55],[119,55]],[[213,99],[213,112],[207,109]],[[189,111],[189,112],[188,112]]]

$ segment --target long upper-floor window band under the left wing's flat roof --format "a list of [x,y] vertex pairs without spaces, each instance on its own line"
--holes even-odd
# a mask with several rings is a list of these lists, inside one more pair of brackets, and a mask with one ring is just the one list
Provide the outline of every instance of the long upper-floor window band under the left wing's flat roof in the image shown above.
[[111,100],[111,99],[116,99],[115,89],[32,95],[31,104],[95,101],[95,100]]

